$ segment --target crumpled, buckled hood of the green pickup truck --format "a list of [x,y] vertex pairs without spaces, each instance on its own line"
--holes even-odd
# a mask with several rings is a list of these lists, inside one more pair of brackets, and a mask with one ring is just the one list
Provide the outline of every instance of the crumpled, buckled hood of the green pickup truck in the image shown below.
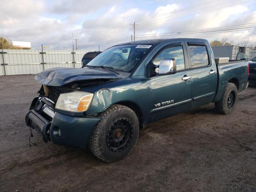
[[35,79],[49,86],[62,86],[74,81],[90,79],[121,79],[115,73],[108,70],[85,68],[50,68],[36,74]]

